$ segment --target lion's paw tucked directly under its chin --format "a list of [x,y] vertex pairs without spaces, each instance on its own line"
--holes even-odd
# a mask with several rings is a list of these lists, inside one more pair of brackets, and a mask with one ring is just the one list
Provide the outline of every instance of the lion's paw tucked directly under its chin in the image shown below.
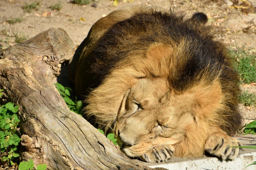
[[174,156],[174,150],[172,145],[156,146],[143,154],[141,158],[146,162],[166,162]]

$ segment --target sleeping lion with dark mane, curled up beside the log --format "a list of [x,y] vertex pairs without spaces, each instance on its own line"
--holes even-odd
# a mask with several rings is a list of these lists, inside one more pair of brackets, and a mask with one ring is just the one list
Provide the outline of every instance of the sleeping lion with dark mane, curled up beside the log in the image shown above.
[[92,124],[146,162],[242,149],[239,76],[210,26],[174,10],[131,6],[98,20],[70,63]]

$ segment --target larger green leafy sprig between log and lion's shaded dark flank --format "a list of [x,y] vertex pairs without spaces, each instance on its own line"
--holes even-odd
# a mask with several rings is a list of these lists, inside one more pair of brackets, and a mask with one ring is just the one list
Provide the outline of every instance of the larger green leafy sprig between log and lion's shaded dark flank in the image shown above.
[[[66,104],[68,105],[68,108],[81,115],[80,114],[80,111],[81,111],[81,108],[82,108],[82,102],[79,100],[77,101],[77,98],[76,98],[76,101],[72,101],[69,96],[70,96],[70,92],[72,91],[72,89],[68,88],[68,87],[64,87],[62,86],[60,83],[55,83],[54,84],[57,88],[57,90],[59,91],[60,93],[60,96],[64,99],[64,101],[66,102]],[[82,116],[82,115],[81,115]]]

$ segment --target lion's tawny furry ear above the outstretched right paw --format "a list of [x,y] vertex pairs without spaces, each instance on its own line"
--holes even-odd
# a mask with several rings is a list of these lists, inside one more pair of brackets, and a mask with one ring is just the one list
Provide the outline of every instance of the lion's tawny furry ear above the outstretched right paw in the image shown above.
[[215,119],[218,109],[223,107],[223,93],[218,81],[208,86],[200,85],[191,89],[194,93],[194,116],[196,122]]

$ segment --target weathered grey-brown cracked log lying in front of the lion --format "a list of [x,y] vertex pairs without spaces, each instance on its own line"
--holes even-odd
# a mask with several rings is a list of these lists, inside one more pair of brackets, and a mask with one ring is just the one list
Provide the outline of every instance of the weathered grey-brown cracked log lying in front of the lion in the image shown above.
[[127,158],[68,109],[52,80],[74,53],[74,43],[60,28],[0,53],[0,88],[20,106],[20,160],[32,159],[35,166],[45,163],[48,170],[151,169]]

